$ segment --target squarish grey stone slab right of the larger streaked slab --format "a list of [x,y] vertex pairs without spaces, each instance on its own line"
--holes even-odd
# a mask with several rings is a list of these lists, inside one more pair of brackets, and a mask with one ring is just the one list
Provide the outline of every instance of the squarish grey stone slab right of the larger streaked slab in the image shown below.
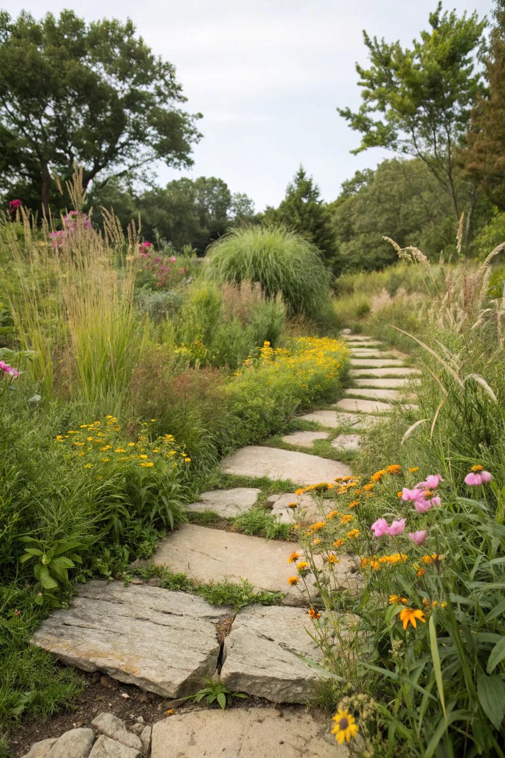
[[226,637],[221,680],[233,692],[274,703],[307,703],[319,676],[298,656],[319,663],[320,648],[305,608],[248,606],[238,611]]

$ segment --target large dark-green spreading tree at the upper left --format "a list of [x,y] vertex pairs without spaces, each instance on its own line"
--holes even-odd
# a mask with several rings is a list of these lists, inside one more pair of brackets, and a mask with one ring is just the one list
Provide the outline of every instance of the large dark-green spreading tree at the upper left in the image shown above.
[[104,186],[153,161],[189,166],[200,138],[172,64],[153,55],[131,20],[86,25],[73,11],[40,22],[0,12],[0,181],[36,186],[48,211],[51,174]]

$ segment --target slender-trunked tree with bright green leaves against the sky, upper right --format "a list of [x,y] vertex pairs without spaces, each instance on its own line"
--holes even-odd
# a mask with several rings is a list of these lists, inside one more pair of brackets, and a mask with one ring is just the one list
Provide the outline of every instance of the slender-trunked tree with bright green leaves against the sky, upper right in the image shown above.
[[[466,133],[479,88],[475,53],[482,45],[485,21],[477,14],[458,18],[455,11],[430,14],[430,31],[413,40],[412,49],[388,44],[363,32],[369,69],[356,65],[363,87],[357,113],[338,108],[363,137],[357,153],[385,147],[420,158],[450,199],[455,219],[460,199],[454,182],[455,149]],[[373,115],[379,114],[374,120]]]

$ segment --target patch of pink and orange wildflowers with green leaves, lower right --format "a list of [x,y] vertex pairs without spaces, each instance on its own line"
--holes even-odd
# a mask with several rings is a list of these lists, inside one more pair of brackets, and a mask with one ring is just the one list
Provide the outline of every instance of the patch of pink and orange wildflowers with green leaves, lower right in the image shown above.
[[360,756],[503,758],[505,488],[479,463],[464,495],[418,478],[394,463],[297,492],[321,518],[295,525],[288,584],[323,655],[332,733],[352,745],[357,725]]

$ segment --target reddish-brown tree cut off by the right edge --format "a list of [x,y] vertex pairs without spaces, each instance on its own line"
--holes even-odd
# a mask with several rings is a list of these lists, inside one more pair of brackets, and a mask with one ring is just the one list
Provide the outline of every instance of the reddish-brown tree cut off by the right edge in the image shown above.
[[489,199],[505,211],[505,2],[497,0],[485,58],[488,91],[472,110],[472,125],[463,150],[466,171],[480,180]]

